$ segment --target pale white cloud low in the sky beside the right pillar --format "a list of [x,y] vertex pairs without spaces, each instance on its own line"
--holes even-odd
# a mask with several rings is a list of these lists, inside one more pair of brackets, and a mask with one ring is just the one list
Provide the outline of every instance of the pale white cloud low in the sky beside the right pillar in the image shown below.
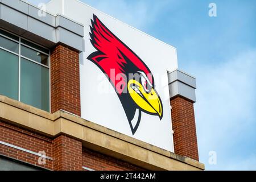
[[[218,64],[192,67],[198,86],[195,108],[200,156],[208,169],[212,168],[207,164],[212,150],[219,159],[213,169],[235,166],[236,160],[227,157],[241,150],[238,143],[255,126],[255,63],[256,50],[251,50]],[[247,161],[245,154],[240,155]]]

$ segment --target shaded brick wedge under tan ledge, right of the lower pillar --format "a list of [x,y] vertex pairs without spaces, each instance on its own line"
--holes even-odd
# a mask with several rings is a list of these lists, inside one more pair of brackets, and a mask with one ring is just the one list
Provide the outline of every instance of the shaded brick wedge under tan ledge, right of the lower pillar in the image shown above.
[[102,155],[83,148],[82,150],[82,163],[84,167],[96,171],[142,171],[144,169],[137,167],[133,164],[122,162],[110,156]]

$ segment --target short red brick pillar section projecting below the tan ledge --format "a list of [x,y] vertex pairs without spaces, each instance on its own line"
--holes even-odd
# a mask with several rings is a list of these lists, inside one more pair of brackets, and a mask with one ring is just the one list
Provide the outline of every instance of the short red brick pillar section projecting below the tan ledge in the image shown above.
[[82,142],[60,135],[52,146],[54,171],[82,171]]

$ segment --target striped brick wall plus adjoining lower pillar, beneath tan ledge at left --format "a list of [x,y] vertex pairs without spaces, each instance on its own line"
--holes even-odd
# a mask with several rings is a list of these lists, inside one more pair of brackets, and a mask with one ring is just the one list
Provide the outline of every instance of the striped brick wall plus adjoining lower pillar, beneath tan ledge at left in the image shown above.
[[4,144],[0,144],[0,155],[56,171],[82,170],[82,143],[65,135],[51,139],[0,121],[0,141],[36,153],[45,151],[52,160],[40,165],[39,156]]

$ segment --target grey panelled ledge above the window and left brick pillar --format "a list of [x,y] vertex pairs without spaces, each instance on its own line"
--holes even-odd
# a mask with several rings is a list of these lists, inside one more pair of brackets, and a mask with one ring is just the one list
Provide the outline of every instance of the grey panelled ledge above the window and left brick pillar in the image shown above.
[[21,0],[0,0],[0,27],[48,48],[61,42],[84,51],[82,24],[63,15],[44,12],[40,16],[39,11],[38,7]]

